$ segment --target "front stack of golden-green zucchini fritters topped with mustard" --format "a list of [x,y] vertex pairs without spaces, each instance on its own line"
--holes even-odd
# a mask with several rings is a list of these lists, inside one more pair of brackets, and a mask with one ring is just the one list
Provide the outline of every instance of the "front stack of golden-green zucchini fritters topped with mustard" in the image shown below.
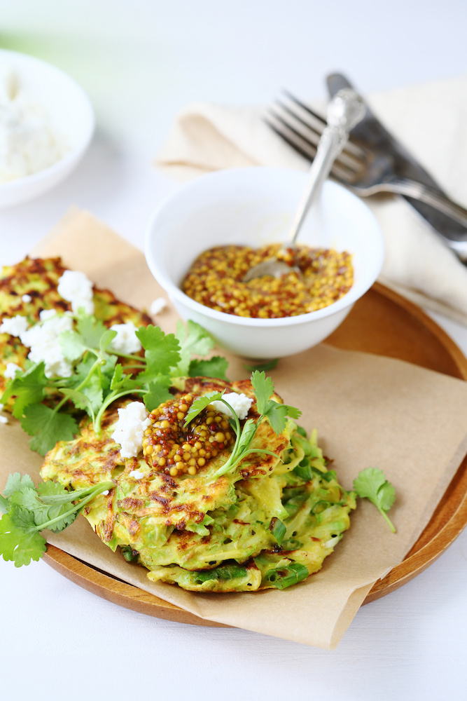
[[[254,400],[249,381],[180,379],[172,391],[176,399],[224,388]],[[254,401],[248,418],[258,419]],[[111,437],[117,420],[113,405],[99,437],[88,423],[76,440],[58,443],[41,475],[69,489],[113,480],[115,489],[97,496],[83,515],[112,550],[120,546],[125,559],[144,565],[151,580],[203,592],[284,588],[318,571],[349,527],[354,495],[337,483],[313,442],[305,441],[312,479],[302,476],[304,439],[293,421],[281,435],[267,421],[258,426],[251,447],[275,456],[249,454],[233,472],[215,477],[229,446],[195,475],[172,476],[147,455],[120,456]],[[277,524],[284,524],[281,538]]]

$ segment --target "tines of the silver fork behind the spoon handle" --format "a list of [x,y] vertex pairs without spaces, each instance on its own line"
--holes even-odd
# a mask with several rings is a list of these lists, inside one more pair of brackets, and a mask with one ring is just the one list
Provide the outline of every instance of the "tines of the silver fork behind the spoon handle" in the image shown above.
[[[284,90],[284,97],[276,100],[269,108],[265,121],[300,156],[313,161],[316,146],[326,127],[325,118]],[[362,168],[364,160],[363,149],[347,142],[333,165],[333,175],[351,181]]]

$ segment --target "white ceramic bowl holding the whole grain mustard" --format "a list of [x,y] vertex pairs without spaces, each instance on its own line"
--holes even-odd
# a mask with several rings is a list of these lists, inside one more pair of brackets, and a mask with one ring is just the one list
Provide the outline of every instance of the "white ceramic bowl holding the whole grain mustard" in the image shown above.
[[375,282],[384,257],[382,231],[368,207],[327,181],[299,240],[353,255],[354,285],[334,304],[281,319],[243,318],[190,299],[179,285],[202,251],[216,245],[262,246],[286,241],[307,174],[279,168],[232,168],[181,186],[155,211],[146,233],[146,260],[182,318],[246,358],[280,358],[326,339]]

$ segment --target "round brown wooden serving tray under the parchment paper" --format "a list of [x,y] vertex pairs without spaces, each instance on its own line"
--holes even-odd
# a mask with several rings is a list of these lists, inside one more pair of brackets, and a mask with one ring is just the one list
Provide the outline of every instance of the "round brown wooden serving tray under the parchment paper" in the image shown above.
[[[388,287],[375,283],[326,343],[351,351],[377,353],[407,360],[467,380],[467,359],[454,341],[418,306]],[[459,536],[467,524],[467,458],[442,496],[431,521],[412,550],[384,579],[377,581],[364,603],[393,592],[423,571]],[[99,571],[81,560],[47,546],[44,559],[76,584],[133,611],[156,618],[225,627]]]

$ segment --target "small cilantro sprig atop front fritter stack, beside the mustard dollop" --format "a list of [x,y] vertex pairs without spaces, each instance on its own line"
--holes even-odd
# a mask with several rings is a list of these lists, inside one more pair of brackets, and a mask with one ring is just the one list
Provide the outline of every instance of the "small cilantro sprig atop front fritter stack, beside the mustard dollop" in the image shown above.
[[227,472],[232,472],[243,458],[251,453],[263,453],[277,457],[277,455],[270,450],[251,448],[251,443],[256,435],[258,426],[267,418],[274,433],[280,434],[284,428],[286,428],[286,416],[298,418],[302,413],[299,409],[295,409],[295,407],[289,407],[288,404],[279,404],[279,402],[275,402],[270,398],[274,394],[274,385],[272,379],[266,377],[264,372],[259,372],[258,370],[253,372],[251,374],[251,384],[260,414],[258,421],[253,421],[252,418],[248,418],[243,428],[241,428],[235,410],[232,409],[230,404],[223,397],[225,390],[223,392],[209,392],[195,400],[191,405],[190,411],[186,415],[185,426],[188,426],[190,421],[193,421],[193,418],[198,416],[211,402],[223,402],[232,413],[233,418],[230,418],[229,423],[235,430],[235,444],[228,460],[215,472],[214,477],[221,477],[221,475],[225,475]]

